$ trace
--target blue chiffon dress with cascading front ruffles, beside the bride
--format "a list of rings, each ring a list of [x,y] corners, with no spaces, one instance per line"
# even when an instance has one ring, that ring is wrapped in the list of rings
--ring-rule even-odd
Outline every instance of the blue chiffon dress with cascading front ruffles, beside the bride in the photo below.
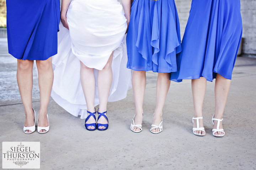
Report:
[[[127,68],[176,72],[179,52],[180,23],[174,0],[134,0],[127,33]]]

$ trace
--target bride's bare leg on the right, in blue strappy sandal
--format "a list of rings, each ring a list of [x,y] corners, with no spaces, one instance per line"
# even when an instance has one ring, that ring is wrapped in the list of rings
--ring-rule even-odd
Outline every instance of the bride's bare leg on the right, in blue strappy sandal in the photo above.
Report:
[[[112,85],[113,73],[112,73],[112,60],[113,53],[111,53],[110,58],[107,61],[107,64],[102,70],[98,71],[98,94],[100,106],[98,112],[103,113],[107,111],[107,101],[110,94],[110,89]],[[105,113],[106,114],[106,113]],[[108,121],[103,116],[98,119],[98,123],[107,124]],[[98,129],[105,129],[105,126],[99,126]]]

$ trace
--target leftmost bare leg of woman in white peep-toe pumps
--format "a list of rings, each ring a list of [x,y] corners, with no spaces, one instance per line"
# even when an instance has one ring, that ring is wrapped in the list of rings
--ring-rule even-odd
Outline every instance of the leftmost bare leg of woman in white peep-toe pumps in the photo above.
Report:
[[[25,108],[25,127],[34,126],[34,112],[32,109],[33,63],[33,60],[17,59],[17,83]],[[31,132],[31,130],[26,130],[26,132]]]

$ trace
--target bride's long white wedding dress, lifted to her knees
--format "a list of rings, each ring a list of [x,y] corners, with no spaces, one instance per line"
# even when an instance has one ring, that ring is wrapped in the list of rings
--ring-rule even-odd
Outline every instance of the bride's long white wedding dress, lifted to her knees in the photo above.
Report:
[[[67,19],[69,30],[60,23],[58,54],[52,57],[51,96],[66,111],[85,119],[87,107],[80,83],[80,61],[95,68],[95,106],[99,104],[98,70],[103,69],[113,50],[113,81],[108,101],[122,100],[132,86],[131,71],[126,68],[127,20],[117,0],[73,0]]]

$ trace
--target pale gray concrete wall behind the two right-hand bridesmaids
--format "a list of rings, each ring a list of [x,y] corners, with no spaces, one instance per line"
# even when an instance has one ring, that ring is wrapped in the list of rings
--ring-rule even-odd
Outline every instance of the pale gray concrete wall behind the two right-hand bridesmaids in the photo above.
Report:
[[[192,0],[175,0],[183,36]],[[256,55],[256,0],[240,0],[243,21],[242,53]]]

